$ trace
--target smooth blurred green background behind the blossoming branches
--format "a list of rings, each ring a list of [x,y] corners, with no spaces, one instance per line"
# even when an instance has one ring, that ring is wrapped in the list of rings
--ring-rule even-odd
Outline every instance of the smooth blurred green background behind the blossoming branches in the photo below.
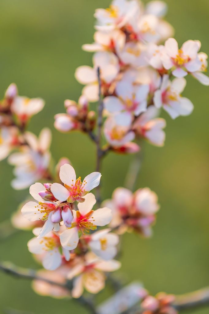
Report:
[[[168,20],[176,39],[199,39],[209,53],[208,0],[167,0]],[[43,97],[44,110],[35,116],[30,130],[53,130],[52,154],[57,161],[69,157],[77,173],[94,171],[95,147],[83,134],[63,135],[53,128],[53,116],[64,112],[63,101],[77,100],[82,86],[74,79],[75,68],[91,65],[91,54],[81,45],[91,43],[94,9],[108,7],[109,0],[1,0],[0,2],[0,95],[15,82],[20,95]],[[189,117],[167,120],[166,144],[144,148],[138,187],[150,187],[159,196],[161,209],[152,239],[135,235],[123,237],[122,268],[125,281],[141,280],[155,294],[158,291],[184,293],[208,285],[208,93],[207,87],[192,78],[184,95],[195,110]],[[110,154],[104,162],[103,195],[109,198],[122,186],[131,156]],[[12,167],[0,164],[0,220],[8,219],[28,191],[10,187]],[[23,267],[37,268],[27,250],[30,232],[18,232],[0,242],[0,259]],[[104,300],[110,291],[102,292]],[[87,313],[75,301],[55,300],[36,295],[30,282],[0,273],[0,312],[14,308],[34,313]],[[206,314],[208,309],[194,311]]]

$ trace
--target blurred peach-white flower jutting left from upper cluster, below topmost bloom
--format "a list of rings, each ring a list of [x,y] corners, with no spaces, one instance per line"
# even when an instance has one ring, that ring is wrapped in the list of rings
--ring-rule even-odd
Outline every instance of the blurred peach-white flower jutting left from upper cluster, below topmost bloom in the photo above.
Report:
[[[121,51],[126,42],[126,35],[121,30],[113,30],[110,33],[96,31],[94,33],[94,43],[82,46],[85,51]]]

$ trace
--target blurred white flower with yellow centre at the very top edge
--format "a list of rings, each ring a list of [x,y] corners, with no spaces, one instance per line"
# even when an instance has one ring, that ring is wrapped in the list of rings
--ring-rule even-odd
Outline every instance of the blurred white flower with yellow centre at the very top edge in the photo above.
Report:
[[[94,17],[97,19],[96,29],[112,31],[121,29],[126,23],[138,15],[140,6],[137,0],[113,0],[110,7],[96,9]]]

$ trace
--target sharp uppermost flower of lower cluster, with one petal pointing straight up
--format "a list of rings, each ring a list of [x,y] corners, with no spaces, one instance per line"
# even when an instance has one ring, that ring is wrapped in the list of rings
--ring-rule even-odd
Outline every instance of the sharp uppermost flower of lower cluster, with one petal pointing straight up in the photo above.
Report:
[[[76,173],[71,165],[65,164],[60,167],[60,180],[64,186],[59,183],[53,183],[51,192],[56,199],[68,203],[83,202],[84,196],[99,185],[101,178],[100,172],[92,172],[81,181],[81,177],[76,179]]]

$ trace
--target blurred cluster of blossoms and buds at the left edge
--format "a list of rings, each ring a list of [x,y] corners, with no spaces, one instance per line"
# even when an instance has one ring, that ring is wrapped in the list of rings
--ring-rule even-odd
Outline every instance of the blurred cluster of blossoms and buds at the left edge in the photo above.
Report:
[[[0,160],[9,156],[8,163],[15,166],[12,187],[16,190],[50,177],[50,129],[44,128],[39,138],[26,131],[30,118],[44,105],[44,100],[40,98],[19,96],[15,84],[9,85],[0,102]],[[13,150],[17,152],[12,153]]]

